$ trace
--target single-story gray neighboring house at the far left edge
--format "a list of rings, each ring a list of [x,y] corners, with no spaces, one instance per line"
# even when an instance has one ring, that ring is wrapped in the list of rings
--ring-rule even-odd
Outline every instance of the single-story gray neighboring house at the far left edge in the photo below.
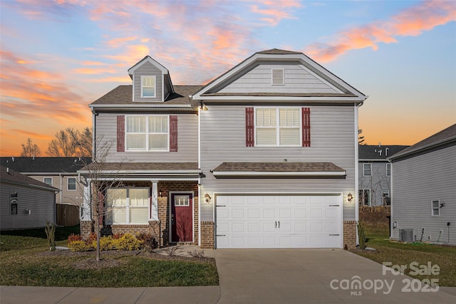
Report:
[[[56,222],[58,189],[0,166],[0,229],[45,227]]]

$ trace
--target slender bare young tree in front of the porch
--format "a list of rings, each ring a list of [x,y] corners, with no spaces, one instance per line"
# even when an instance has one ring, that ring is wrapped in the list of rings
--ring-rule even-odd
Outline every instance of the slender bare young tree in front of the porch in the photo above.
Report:
[[[102,142],[99,140],[98,142]],[[108,153],[113,146],[113,142],[103,142],[96,148],[96,158],[92,162],[84,164],[79,171],[81,173],[81,183],[83,183],[83,213],[92,221],[97,233],[96,260],[100,261],[100,235],[103,229],[103,219],[112,218],[113,206],[107,204],[106,196],[111,189],[122,187],[118,174],[124,162],[107,162]],[[81,159],[83,161],[83,159]],[[120,197],[110,197],[111,201]]]

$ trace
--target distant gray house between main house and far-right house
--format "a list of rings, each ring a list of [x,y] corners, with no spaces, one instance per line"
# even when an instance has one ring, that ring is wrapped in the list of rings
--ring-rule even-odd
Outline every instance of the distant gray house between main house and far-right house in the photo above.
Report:
[[[388,157],[409,146],[360,145],[359,191],[360,206],[386,206],[390,204],[391,163]]]

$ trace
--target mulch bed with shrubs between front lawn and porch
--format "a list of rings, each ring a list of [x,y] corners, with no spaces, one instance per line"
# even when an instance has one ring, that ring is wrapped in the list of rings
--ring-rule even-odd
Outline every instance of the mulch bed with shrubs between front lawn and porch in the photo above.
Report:
[[[147,252],[147,251],[101,251],[100,252],[100,261],[96,261],[96,252],[95,251],[70,251],[70,250],[56,250],[56,251],[44,251],[38,253],[40,256],[68,256],[68,257],[77,257],[84,256],[87,257],[81,261],[76,261],[73,263],[73,267],[77,269],[101,269],[108,267],[120,266],[122,263],[125,263],[122,258],[123,256],[141,256],[143,258],[150,258],[153,260],[160,261],[187,261],[187,262],[197,262],[197,263],[213,263],[215,264],[214,258],[194,258],[186,256],[165,256],[160,253]]]

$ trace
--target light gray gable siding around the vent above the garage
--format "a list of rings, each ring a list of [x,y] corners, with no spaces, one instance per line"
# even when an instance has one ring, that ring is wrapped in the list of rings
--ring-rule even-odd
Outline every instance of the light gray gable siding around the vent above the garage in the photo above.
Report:
[[[271,69],[284,69],[284,85],[271,85]],[[219,93],[341,93],[299,63],[260,63]]]

